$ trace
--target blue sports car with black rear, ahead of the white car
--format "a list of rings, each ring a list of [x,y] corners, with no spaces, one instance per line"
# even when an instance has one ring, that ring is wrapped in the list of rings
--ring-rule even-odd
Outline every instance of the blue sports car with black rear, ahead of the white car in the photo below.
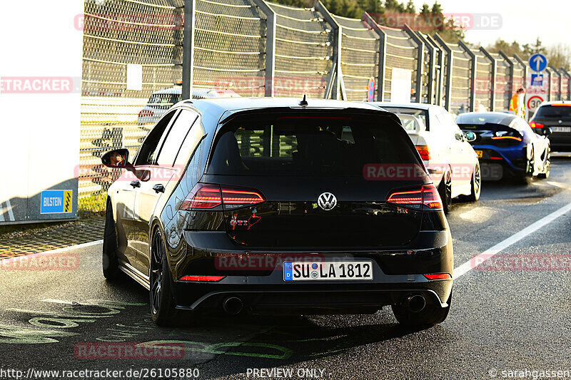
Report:
[[[523,180],[549,177],[549,139],[534,133],[522,118],[510,113],[470,112],[459,115],[456,123],[480,159],[483,179],[498,180],[506,172]]]

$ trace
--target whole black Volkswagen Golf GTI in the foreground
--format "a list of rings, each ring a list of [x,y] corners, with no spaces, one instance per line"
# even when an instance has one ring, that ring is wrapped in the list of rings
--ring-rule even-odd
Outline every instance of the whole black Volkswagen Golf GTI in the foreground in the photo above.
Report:
[[[108,189],[103,275],[149,289],[151,314],[448,316],[453,247],[400,120],[291,98],[183,101]]]

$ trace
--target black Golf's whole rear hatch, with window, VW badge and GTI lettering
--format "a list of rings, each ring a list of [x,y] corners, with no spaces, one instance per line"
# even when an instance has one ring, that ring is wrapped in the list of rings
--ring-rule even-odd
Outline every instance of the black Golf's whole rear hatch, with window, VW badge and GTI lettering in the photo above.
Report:
[[[201,182],[221,187],[238,245],[342,250],[413,240],[423,207],[402,207],[400,193],[430,178],[393,115],[288,110],[227,120]]]

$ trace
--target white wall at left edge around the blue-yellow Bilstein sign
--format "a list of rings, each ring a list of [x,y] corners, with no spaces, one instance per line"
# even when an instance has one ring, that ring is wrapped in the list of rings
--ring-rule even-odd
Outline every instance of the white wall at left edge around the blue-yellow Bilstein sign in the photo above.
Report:
[[[0,223],[12,219],[7,202],[16,221],[76,215],[83,9],[81,0],[0,3]],[[46,189],[74,190],[74,212],[39,215]]]

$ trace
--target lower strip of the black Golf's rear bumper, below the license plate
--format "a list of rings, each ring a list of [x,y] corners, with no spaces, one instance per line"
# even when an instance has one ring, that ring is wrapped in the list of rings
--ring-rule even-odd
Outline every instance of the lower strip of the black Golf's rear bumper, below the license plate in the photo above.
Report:
[[[453,280],[372,284],[196,284],[177,283],[176,308],[220,311],[229,297],[242,300],[251,314],[336,314],[375,312],[420,294],[427,304],[445,306]],[[193,294],[200,293],[200,297]]]

